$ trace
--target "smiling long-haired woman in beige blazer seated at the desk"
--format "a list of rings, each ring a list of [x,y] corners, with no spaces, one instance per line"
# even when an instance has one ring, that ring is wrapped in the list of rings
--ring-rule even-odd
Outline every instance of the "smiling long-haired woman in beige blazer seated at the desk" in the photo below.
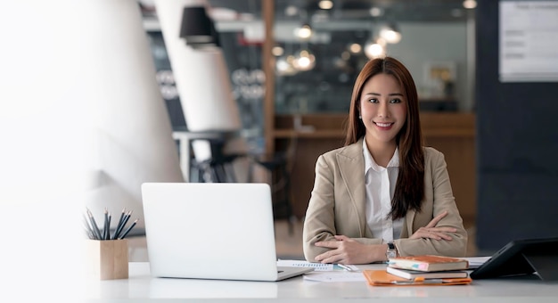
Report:
[[[444,155],[422,140],[409,71],[392,57],[368,61],[355,81],[345,146],[316,161],[303,230],[308,261],[464,257],[467,233]]]

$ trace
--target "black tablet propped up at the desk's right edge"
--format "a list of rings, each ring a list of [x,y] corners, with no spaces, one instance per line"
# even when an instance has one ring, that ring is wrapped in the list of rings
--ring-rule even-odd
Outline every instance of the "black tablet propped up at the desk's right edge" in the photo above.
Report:
[[[558,238],[509,242],[470,275],[488,279],[534,273],[543,280],[558,280]]]

